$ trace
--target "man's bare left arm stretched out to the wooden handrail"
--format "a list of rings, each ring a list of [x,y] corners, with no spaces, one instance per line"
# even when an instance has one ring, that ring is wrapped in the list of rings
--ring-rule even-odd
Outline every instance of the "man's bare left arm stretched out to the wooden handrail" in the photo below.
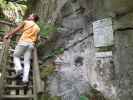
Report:
[[[19,25],[18,27],[16,27],[14,30],[12,30],[11,32],[7,33],[4,36],[4,39],[8,39],[10,37],[12,37],[14,34],[16,34],[17,32],[19,32],[22,28],[24,27],[24,23],[22,23],[21,25]]]

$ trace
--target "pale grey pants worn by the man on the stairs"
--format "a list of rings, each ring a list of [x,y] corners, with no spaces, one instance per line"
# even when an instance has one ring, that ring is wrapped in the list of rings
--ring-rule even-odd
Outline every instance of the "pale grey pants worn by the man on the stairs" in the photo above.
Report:
[[[13,54],[16,73],[23,71],[23,82],[28,82],[29,80],[30,60],[33,48],[34,45],[32,43],[18,43]],[[21,64],[21,56],[24,57],[24,67]]]

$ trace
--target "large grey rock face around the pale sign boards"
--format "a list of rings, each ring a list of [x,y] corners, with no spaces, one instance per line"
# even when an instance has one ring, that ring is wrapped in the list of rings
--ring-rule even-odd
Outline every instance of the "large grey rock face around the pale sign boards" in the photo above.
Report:
[[[40,8],[44,9],[43,13],[37,8],[35,11],[41,16],[49,15],[44,19],[50,18],[50,22],[60,23],[56,46],[65,48],[55,60],[59,64],[58,73],[49,77],[50,93],[62,96],[63,100],[67,96],[78,100],[80,94],[89,94],[95,88],[109,100],[132,100],[132,0],[45,0],[41,3],[39,0],[35,6],[48,3]],[[53,10],[46,11],[51,6]],[[113,55],[97,59],[92,22],[107,17],[113,18]]]

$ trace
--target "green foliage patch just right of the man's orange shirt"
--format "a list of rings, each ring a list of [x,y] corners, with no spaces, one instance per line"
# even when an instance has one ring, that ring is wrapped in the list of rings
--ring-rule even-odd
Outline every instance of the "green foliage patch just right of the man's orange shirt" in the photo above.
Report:
[[[53,33],[57,31],[57,27],[52,24],[44,24],[39,22],[38,25],[40,26],[40,33],[44,37],[48,37],[49,33]]]

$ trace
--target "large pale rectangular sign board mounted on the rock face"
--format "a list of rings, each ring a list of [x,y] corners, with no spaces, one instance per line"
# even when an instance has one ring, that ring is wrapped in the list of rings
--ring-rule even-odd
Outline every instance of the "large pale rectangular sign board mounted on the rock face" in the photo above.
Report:
[[[105,18],[93,22],[95,47],[106,47],[113,45],[112,19]]]

